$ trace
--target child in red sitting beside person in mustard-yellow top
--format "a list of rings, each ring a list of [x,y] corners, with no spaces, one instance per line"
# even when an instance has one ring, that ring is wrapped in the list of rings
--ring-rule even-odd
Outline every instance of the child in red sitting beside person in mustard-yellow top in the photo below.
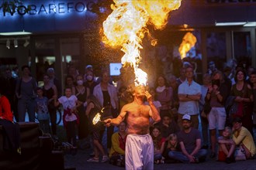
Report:
[[[232,134],[231,132],[232,131],[230,127],[224,128],[222,136],[220,136],[218,139],[218,143],[219,143],[218,161],[226,162],[228,164],[230,164],[231,162],[234,162],[234,151],[236,148],[236,145],[231,138],[231,134]]]

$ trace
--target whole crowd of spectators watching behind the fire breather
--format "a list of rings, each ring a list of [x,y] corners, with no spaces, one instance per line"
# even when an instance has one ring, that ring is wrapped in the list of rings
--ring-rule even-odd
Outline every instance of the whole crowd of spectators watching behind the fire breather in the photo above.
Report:
[[[152,123],[150,128],[155,146],[154,162],[203,162],[209,152],[209,158],[231,163],[240,160],[237,154],[240,150],[244,151],[241,152],[244,159],[254,158],[256,70],[238,65],[231,76],[209,62],[202,83],[197,82],[192,64],[186,62],[179,71],[179,76],[159,74],[155,83],[149,83],[154,84],[148,91],[161,116],[161,121]],[[2,77],[6,84],[2,86],[2,94],[9,99],[15,121],[25,121],[26,113],[29,121],[47,114],[48,121],[39,121],[41,127],[50,123],[51,128],[42,128],[43,132],[58,138],[56,109],[61,104],[67,140],[74,147],[85,148],[87,142],[94,148],[94,157],[88,162],[99,162],[101,155],[101,162],[108,162],[110,158],[112,164],[123,165],[126,123],[120,124],[119,131],[115,132],[114,127],[95,126],[92,119],[100,112],[102,118],[117,117],[123,105],[133,101],[129,85],[134,75],[129,67],[121,69],[116,84],[112,83],[108,70],[102,70],[96,79],[93,66],[86,66],[84,74],[71,66],[65,77],[63,96],[53,68],[43,76],[43,87],[38,87],[29,66],[22,66],[22,75],[16,79],[10,73],[11,70],[6,69]],[[41,100],[47,104],[45,110],[40,108]],[[102,141],[104,131],[106,148]]]

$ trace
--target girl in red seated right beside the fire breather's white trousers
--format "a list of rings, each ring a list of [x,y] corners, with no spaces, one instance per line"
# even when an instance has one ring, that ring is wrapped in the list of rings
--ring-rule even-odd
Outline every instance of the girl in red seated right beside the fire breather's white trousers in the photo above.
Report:
[[[160,128],[154,126],[151,132],[151,137],[154,143],[154,163],[159,164],[164,162],[164,158],[162,157],[163,148],[161,145],[164,143],[165,138],[162,138]]]

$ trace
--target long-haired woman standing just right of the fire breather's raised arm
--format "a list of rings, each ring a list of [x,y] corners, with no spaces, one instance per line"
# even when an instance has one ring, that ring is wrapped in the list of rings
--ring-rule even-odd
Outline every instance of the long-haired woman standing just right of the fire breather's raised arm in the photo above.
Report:
[[[160,116],[162,118],[164,114],[171,114],[171,102],[173,100],[173,90],[168,87],[164,75],[157,77],[156,92],[156,99],[161,103]]]

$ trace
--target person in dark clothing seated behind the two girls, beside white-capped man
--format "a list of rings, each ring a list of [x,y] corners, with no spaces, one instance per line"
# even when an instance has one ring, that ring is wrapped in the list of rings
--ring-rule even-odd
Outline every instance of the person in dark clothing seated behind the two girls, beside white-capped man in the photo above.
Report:
[[[163,116],[163,120],[160,125],[161,135],[164,138],[168,138],[170,134],[176,134],[180,131],[178,124],[171,118],[169,114]]]

